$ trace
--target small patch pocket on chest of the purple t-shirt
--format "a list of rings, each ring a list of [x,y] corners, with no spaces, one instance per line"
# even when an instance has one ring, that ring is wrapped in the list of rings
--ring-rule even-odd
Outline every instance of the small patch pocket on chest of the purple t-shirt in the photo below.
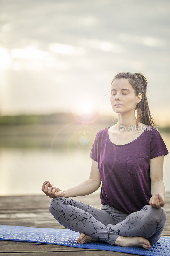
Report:
[[[135,176],[141,174],[144,167],[144,157],[127,156],[126,167],[127,167],[127,172]]]

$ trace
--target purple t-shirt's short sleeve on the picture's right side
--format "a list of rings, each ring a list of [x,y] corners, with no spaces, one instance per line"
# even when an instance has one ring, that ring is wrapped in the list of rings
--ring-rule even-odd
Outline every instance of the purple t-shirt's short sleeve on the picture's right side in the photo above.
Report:
[[[168,154],[168,150],[166,145],[158,132],[158,130],[154,130],[152,133],[151,144],[150,144],[150,159],[155,158],[157,156],[166,156]]]

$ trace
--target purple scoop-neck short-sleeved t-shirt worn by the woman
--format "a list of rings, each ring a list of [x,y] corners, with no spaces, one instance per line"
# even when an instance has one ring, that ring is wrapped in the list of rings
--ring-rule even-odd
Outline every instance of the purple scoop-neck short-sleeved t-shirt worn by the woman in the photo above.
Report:
[[[150,125],[124,145],[111,142],[108,129],[97,132],[90,152],[90,157],[98,162],[102,180],[101,204],[129,215],[149,204],[150,159],[169,152],[158,130]]]

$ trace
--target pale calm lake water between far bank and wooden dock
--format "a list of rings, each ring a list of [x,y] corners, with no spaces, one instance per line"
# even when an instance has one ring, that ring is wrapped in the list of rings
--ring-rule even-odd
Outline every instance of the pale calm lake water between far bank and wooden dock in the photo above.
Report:
[[[169,134],[160,134],[170,152]],[[22,141],[24,137],[20,138],[19,145],[22,145]],[[24,148],[18,146],[18,140],[15,144],[9,138],[3,139],[0,147],[0,196],[45,195],[41,190],[45,180],[50,181],[52,186],[66,190],[88,179],[92,163],[89,156],[91,147],[82,149],[67,145],[65,148],[53,148],[51,145],[49,141],[47,147]],[[166,192],[170,192],[169,166],[170,154],[164,157]],[[95,193],[100,194],[100,189],[101,186]]]

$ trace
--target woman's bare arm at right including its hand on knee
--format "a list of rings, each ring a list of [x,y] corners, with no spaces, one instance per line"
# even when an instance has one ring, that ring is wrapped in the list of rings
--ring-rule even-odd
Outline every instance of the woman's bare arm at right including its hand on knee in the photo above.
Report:
[[[165,186],[163,182],[164,155],[150,159],[151,195],[149,204],[160,208],[165,205]]]

